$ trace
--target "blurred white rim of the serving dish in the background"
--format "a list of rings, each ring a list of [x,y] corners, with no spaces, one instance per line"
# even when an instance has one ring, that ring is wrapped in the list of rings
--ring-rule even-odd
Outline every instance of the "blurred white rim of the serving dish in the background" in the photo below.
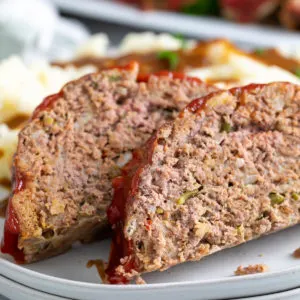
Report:
[[[299,33],[260,25],[241,25],[213,17],[171,12],[142,12],[112,0],[52,0],[66,12],[140,28],[182,33],[197,38],[228,38],[252,46],[299,45]]]

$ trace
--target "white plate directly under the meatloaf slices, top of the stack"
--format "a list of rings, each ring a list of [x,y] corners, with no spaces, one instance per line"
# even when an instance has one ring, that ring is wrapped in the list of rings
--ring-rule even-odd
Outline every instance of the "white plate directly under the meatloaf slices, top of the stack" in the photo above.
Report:
[[[2,234],[3,219],[0,222]],[[145,275],[147,285],[100,284],[90,259],[107,260],[109,241],[74,247],[70,252],[39,263],[18,266],[0,257],[0,274],[28,287],[74,299],[208,300],[265,295],[296,288],[300,260],[291,253],[300,246],[300,226],[242,246],[221,251],[200,262]],[[262,255],[262,256],[261,256]],[[233,276],[239,265],[265,263],[270,272]]]

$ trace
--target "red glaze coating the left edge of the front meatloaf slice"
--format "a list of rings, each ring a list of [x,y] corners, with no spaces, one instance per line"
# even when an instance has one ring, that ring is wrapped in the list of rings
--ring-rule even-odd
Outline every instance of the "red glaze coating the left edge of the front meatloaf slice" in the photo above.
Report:
[[[132,160],[123,168],[123,175],[113,180],[114,196],[111,205],[107,210],[109,223],[112,225],[114,234],[111,245],[109,264],[106,274],[109,283],[125,284],[129,280],[116,272],[116,268],[121,265],[120,260],[127,257],[128,260],[122,264],[124,271],[138,271],[138,262],[132,256],[133,245],[124,236],[124,222],[126,219],[126,206],[133,201],[139,183],[139,174],[143,167],[149,162],[155,147],[156,137],[153,136],[144,148],[133,152]]]

